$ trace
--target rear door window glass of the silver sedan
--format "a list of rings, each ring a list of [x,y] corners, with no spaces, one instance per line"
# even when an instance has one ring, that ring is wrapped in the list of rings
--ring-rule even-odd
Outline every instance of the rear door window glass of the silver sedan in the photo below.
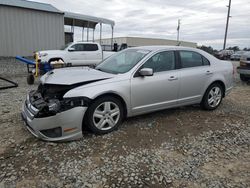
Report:
[[[182,68],[198,67],[203,65],[200,54],[191,51],[180,51]]]

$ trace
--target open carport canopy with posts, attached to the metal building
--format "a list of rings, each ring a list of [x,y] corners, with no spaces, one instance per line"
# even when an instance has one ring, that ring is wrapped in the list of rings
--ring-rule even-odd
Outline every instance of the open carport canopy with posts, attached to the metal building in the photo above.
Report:
[[[84,14],[78,14],[73,12],[64,12],[64,25],[69,25],[72,28],[72,32],[74,34],[74,27],[82,27],[82,39],[84,38],[84,28],[87,28],[87,41],[89,41],[89,28],[93,29],[93,41],[94,41],[94,32],[96,25],[100,24],[100,43],[102,39],[102,24],[110,25],[112,29],[112,39],[111,39],[111,49],[113,44],[113,33],[114,33],[114,25],[115,22],[113,20],[94,17]]]

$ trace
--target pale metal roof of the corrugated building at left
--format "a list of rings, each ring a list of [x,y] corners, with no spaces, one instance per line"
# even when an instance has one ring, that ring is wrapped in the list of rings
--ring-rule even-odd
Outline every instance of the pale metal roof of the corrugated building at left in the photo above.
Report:
[[[21,8],[27,8],[27,9],[35,9],[35,10],[41,10],[46,12],[54,12],[54,13],[61,13],[62,11],[58,10],[54,6],[46,3],[39,3],[39,2],[33,2],[33,1],[26,1],[26,0],[0,0],[0,5],[6,5],[6,6],[14,6],[14,7],[21,7]]]

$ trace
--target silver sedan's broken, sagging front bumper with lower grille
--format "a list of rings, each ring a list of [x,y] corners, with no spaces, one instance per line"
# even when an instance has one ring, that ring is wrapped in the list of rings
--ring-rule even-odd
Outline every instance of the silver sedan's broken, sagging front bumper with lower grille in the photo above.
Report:
[[[30,102],[23,105],[22,118],[35,137],[46,141],[70,141],[82,137],[82,121],[87,107],[75,107],[49,117],[37,118],[39,110]]]

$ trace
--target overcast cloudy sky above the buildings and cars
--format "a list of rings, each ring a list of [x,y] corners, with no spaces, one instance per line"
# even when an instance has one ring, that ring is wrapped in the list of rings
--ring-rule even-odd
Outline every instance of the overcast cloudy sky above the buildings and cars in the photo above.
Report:
[[[114,37],[177,38],[222,49],[229,0],[33,0],[70,11],[115,21]],[[250,48],[250,0],[232,0],[227,47]],[[95,37],[99,38],[99,26]],[[75,29],[81,40],[81,28]],[[109,26],[104,37],[111,37]]]

